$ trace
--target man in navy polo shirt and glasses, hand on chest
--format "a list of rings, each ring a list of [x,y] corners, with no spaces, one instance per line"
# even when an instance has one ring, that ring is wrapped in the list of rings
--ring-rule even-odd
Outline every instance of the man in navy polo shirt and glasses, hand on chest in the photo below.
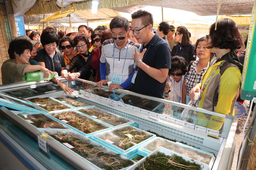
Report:
[[[139,10],[132,14],[131,32],[140,49],[135,49],[134,61],[137,67],[132,78],[132,91],[153,97],[164,98],[165,82],[171,68],[171,50],[166,40],[152,31],[153,16]]]

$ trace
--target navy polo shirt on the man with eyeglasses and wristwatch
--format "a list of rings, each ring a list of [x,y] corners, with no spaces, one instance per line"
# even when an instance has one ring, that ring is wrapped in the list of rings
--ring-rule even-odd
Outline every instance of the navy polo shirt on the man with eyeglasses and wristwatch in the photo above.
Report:
[[[140,47],[139,52],[142,52],[145,48],[147,49],[143,57],[145,64],[156,69],[171,68],[171,50],[166,40],[160,38],[158,34],[155,34],[146,46],[142,45]],[[132,83],[131,91],[143,95],[164,98],[165,82],[160,83],[139,67],[137,67],[135,71],[136,70],[138,70],[138,72],[134,84]]]

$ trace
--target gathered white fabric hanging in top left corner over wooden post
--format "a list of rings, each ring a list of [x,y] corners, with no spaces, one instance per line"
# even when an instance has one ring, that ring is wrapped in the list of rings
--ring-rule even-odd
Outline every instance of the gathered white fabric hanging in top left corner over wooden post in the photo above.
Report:
[[[36,0],[12,0],[12,8],[14,10],[14,16],[23,15],[27,12],[34,4]]]

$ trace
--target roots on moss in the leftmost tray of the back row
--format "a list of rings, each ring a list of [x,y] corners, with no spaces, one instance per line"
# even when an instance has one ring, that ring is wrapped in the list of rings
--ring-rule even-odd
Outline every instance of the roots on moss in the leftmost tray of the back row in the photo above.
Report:
[[[68,109],[65,104],[59,103],[55,100],[52,100],[49,97],[44,97],[44,98],[30,98],[28,99],[32,103],[35,103],[39,107],[42,107],[43,109],[47,111],[57,111],[57,110],[62,110],[62,109]]]

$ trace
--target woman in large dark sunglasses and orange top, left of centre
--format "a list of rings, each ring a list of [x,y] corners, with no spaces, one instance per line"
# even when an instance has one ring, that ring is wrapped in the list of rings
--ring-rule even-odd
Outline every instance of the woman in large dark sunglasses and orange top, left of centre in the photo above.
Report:
[[[65,64],[68,65],[74,57],[74,41],[69,37],[64,36],[62,39],[60,39],[59,48],[63,52]],[[74,69],[70,70],[70,73],[74,73]]]

